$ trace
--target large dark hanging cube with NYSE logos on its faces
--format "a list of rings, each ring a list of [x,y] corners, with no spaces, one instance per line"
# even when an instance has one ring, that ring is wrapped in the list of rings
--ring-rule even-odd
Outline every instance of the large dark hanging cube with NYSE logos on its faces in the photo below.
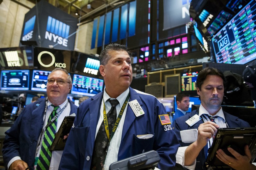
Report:
[[[76,26],[76,18],[43,0],[26,13],[20,40],[28,41],[27,44],[36,41],[44,48],[51,45],[55,49],[74,50]]]

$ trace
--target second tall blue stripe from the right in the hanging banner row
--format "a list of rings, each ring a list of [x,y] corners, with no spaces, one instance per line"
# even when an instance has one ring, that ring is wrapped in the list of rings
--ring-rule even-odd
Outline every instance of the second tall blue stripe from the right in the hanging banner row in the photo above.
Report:
[[[121,22],[120,22],[120,40],[126,37],[127,17],[128,17],[128,5],[125,4],[121,7]]]

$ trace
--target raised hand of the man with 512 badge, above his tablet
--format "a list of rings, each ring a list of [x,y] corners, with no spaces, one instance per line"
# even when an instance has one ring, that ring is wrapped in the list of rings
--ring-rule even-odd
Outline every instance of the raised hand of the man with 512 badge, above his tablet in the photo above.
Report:
[[[213,122],[204,122],[198,127],[198,136],[196,143],[201,146],[201,149],[207,144],[207,142],[216,134],[219,125]]]

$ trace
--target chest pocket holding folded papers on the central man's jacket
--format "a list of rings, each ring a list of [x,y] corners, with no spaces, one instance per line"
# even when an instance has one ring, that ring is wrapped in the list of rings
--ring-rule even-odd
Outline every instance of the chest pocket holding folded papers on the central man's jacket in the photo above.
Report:
[[[148,139],[140,139],[135,134],[133,134],[133,155],[138,155],[140,153],[153,150],[154,138],[155,135]]]

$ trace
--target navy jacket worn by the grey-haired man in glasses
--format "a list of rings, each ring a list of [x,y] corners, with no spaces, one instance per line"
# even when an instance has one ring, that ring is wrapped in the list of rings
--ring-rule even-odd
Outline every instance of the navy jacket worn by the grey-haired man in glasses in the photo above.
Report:
[[[9,161],[16,156],[20,156],[29,169],[34,169],[36,144],[44,125],[45,99],[27,105],[12,127],[5,132],[2,152],[6,169]],[[76,113],[77,106],[70,100],[69,103],[70,115]]]

